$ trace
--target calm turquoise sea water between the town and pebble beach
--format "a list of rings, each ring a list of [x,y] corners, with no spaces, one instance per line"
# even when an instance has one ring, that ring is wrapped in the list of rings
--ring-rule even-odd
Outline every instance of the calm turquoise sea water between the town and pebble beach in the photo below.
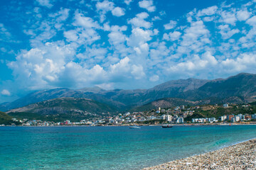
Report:
[[[256,125],[0,127],[0,169],[142,169],[256,137]]]

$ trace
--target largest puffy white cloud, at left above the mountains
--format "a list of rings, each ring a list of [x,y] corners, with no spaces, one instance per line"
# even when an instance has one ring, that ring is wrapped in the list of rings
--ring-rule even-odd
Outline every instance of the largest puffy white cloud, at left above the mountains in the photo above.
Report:
[[[40,89],[58,81],[58,74],[65,69],[65,63],[72,60],[74,54],[70,45],[46,43],[41,48],[24,50],[8,66],[13,69],[16,81],[21,86]]]

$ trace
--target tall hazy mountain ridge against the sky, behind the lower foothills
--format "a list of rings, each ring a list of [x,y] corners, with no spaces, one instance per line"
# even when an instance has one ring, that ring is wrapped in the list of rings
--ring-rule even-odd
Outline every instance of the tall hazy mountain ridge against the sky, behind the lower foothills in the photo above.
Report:
[[[256,74],[240,73],[226,79],[178,79],[166,81],[151,89],[105,90],[100,87],[78,90],[58,88],[36,91],[11,103],[0,104],[0,111],[27,106],[53,98],[90,98],[118,111],[127,111],[160,98],[181,98],[188,101],[255,101]],[[237,97],[237,98],[235,98]],[[217,99],[218,98],[218,99]],[[233,99],[231,99],[233,98]]]

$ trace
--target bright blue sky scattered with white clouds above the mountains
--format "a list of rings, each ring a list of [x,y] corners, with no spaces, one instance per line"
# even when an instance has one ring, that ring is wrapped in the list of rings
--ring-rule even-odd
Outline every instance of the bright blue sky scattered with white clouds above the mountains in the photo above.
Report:
[[[0,103],[256,73],[256,0],[0,2]]]

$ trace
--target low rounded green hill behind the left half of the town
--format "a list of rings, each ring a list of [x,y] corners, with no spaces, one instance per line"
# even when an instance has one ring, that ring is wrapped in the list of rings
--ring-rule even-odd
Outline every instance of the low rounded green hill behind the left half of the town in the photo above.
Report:
[[[82,118],[90,118],[95,115],[107,115],[115,111],[114,108],[104,103],[92,101],[87,98],[54,98],[48,101],[30,104],[22,108],[12,109],[7,113],[15,115],[16,117],[18,117],[18,113],[20,113],[21,116],[24,114],[32,114],[31,116],[38,117],[40,115],[42,119],[45,118],[44,116],[50,116],[50,118],[58,116],[60,118],[75,118],[76,120],[81,120]]]

